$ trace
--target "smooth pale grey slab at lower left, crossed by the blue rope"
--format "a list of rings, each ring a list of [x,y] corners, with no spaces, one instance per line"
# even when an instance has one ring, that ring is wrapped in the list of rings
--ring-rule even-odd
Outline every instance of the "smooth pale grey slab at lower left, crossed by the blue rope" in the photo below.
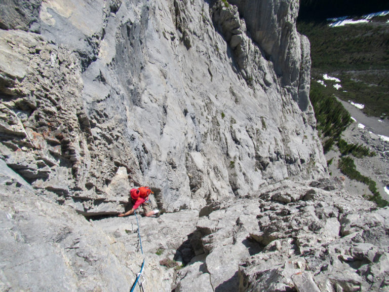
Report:
[[[148,287],[171,290],[173,269],[161,266],[155,252],[164,248],[173,259],[198,212],[139,218],[142,254],[134,216],[88,222],[56,203],[55,193],[32,189],[3,161],[0,169],[0,290],[129,291],[144,258]],[[185,220],[177,228],[172,223],[179,218]]]

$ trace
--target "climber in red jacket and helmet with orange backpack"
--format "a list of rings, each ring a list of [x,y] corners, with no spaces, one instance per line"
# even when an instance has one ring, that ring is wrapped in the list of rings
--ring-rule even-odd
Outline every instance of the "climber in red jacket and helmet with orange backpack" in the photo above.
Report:
[[[131,203],[132,203],[132,208],[131,210],[125,212],[125,213],[120,213],[118,216],[119,217],[124,217],[131,215],[132,213],[135,212],[135,210],[142,205],[143,207],[143,214],[147,217],[152,216],[152,215],[158,215],[160,213],[160,210],[155,209],[151,210],[151,201],[148,198],[148,196],[151,194],[151,190],[148,187],[140,187],[138,189],[131,189],[130,190],[130,195],[131,195]]]

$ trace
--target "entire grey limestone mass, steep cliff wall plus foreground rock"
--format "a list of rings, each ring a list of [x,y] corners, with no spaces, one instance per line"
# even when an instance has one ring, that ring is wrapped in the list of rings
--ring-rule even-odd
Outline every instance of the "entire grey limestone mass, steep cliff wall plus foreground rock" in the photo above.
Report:
[[[389,208],[324,177],[297,0],[0,11],[0,290],[128,291],[143,260],[147,291],[387,290]],[[160,217],[116,216],[138,185]]]

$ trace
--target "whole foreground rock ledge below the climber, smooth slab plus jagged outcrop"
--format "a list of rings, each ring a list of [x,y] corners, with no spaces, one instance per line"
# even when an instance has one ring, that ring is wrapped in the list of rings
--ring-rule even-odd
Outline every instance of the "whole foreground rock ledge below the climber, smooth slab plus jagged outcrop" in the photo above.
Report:
[[[0,168],[4,291],[130,290],[143,259],[145,290],[389,287],[389,209],[345,192],[339,180],[282,181],[200,212],[87,221]]]

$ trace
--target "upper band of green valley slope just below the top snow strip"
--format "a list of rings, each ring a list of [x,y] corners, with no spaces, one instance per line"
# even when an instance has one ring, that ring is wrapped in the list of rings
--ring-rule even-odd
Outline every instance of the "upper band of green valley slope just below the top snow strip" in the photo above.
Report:
[[[389,31],[384,23],[330,27],[328,22],[299,22],[311,43],[312,67],[339,70],[387,69]],[[372,50],[374,48],[374,50]]]

